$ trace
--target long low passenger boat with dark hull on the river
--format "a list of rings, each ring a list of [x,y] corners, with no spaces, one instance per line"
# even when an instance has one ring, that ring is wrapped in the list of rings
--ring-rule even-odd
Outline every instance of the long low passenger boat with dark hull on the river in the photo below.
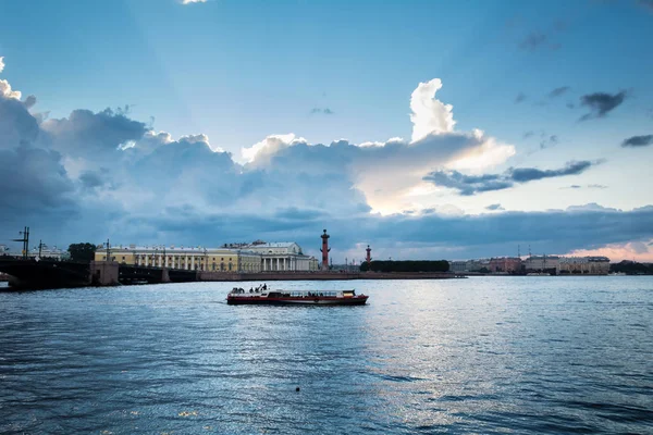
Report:
[[[234,288],[226,296],[229,304],[305,304],[305,306],[364,306],[369,296],[356,290],[254,290]]]

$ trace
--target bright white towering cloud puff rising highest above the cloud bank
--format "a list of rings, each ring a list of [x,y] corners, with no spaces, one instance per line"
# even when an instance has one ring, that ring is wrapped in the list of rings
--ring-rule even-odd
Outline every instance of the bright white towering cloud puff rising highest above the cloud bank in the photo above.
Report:
[[[412,141],[423,139],[430,134],[443,134],[454,130],[454,107],[444,104],[435,98],[442,88],[442,80],[433,78],[420,83],[410,96],[410,121],[412,122]]]

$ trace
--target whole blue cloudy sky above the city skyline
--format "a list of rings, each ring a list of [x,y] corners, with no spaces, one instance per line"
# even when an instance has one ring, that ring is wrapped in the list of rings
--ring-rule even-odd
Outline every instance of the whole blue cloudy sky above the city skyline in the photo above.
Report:
[[[0,244],[653,261],[653,1],[0,0]],[[15,246],[13,244],[12,246]]]

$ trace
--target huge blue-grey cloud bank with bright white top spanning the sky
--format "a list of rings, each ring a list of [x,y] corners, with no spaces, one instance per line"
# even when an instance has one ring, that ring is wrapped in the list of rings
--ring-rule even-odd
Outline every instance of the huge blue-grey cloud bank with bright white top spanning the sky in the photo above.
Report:
[[[466,215],[443,204],[424,181],[433,167],[482,172],[505,163],[515,148],[479,129],[454,130],[451,105],[434,99],[440,87],[431,80],[412,94],[410,141],[311,144],[270,135],[244,149],[244,162],[206,135],[173,137],[124,111],[75,110],[44,120],[5,91],[0,239],[28,224],[52,245],[110,237],[220,246],[263,238],[297,240],[318,254],[326,227],[334,256],[352,251],[352,258],[359,244],[373,243],[393,258],[442,258],[512,251],[516,240],[553,252],[653,238],[653,208]],[[525,176],[510,170],[479,177],[514,185],[518,175]]]

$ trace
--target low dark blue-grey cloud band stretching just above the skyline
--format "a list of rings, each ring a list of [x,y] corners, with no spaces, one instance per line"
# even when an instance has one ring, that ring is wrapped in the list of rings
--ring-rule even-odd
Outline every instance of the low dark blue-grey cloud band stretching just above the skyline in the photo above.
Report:
[[[301,211],[299,210],[299,213]],[[309,212],[310,214],[310,212]],[[319,236],[325,227],[331,235],[332,254],[357,244],[372,244],[393,251],[409,247],[405,258],[473,258],[505,254],[517,244],[529,243],[547,252],[565,253],[574,249],[653,238],[653,207],[632,211],[605,209],[596,204],[544,212],[486,213],[442,216],[439,214],[365,214],[338,216],[323,214],[322,220],[285,221],[249,213],[211,214],[199,210],[164,210],[145,220],[131,217],[125,228],[136,234],[156,228],[157,234],[188,240],[190,245],[220,246],[223,243],[292,239],[305,251],[318,254]],[[119,233],[125,236],[123,231]],[[365,252],[361,250],[361,258]],[[344,254],[343,254],[344,257]]]

